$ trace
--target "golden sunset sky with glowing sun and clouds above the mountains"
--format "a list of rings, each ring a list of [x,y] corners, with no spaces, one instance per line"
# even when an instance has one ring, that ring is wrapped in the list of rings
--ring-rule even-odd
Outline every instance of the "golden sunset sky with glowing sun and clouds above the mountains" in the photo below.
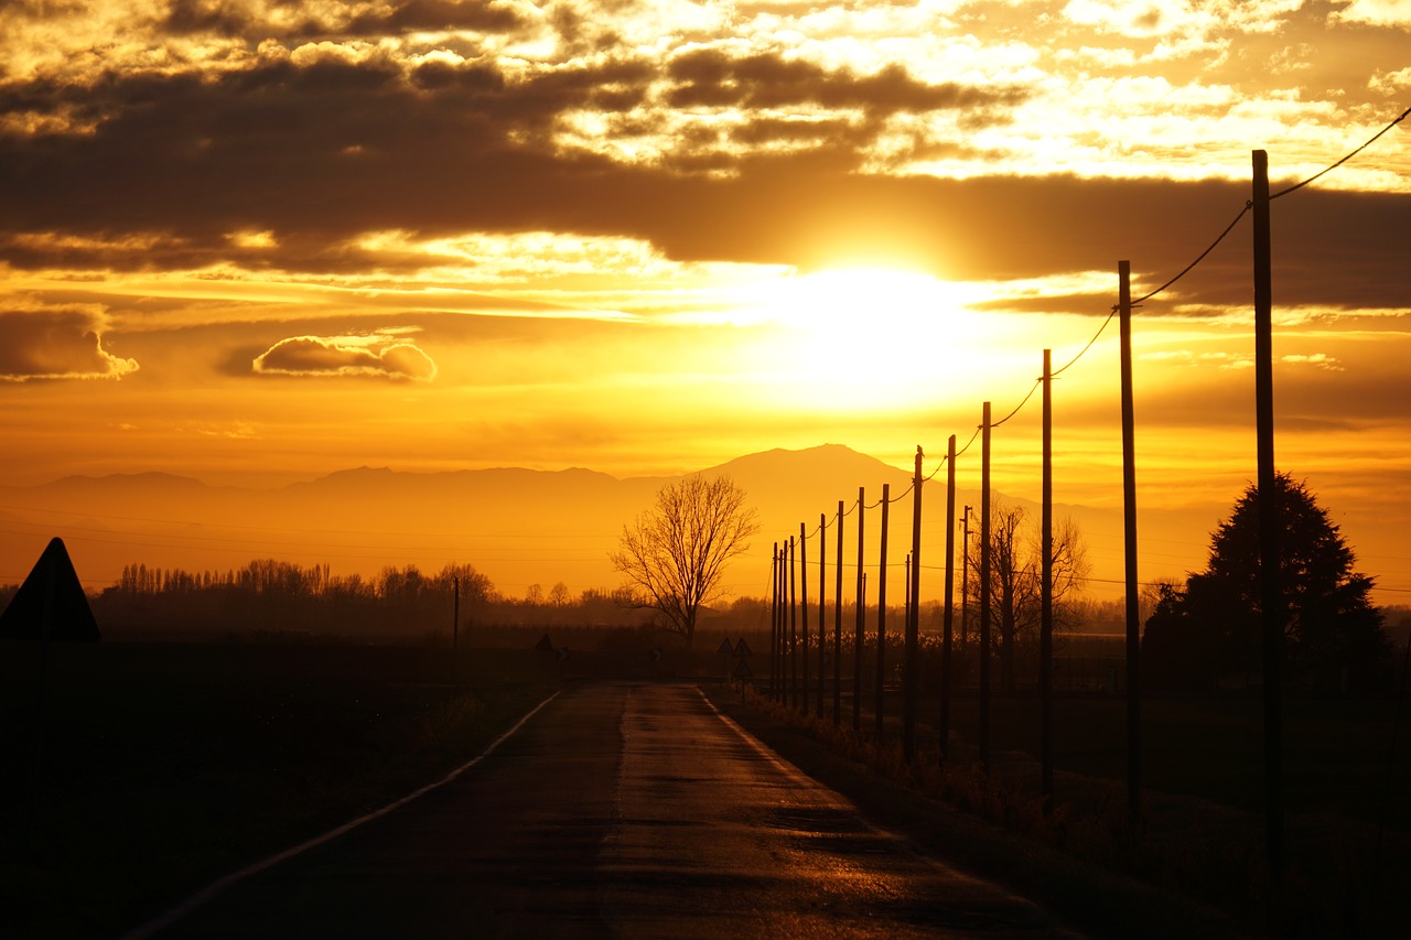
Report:
[[[931,469],[1253,150],[1283,189],[1408,107],[1411,0],[6,3],[0,484]],[[1146,507],[1254,477],[1250,239],[1137,312]],[[1411,603],[1411,120],[1273,244],[1278,464]],[[1116,339],[1055,382],[1065,502],[1120,505]],[[1037,402],[995,432],[1030,498]]]

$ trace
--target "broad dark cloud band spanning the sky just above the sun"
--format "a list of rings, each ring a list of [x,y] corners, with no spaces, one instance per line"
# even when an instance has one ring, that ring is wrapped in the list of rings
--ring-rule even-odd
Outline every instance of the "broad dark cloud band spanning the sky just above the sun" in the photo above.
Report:
[[[988,114],[1010,95],[770,56],[696,54],[667,68],[735,102]],[[687,131],[679,155],[650,165],[553,140],[555,120],[583,109],[610,110],[619,133],[660,131],[626,113],[658,75],[656,64],[624,61],[511,80],[487,65],[406,73],[388,59],[330,58],[207,78],[110,75],[85,88],[11,83],[0,113],[69,113],[96,130],[0,134],[0,260],[337,271],[377,264],[349,247],[365,231],[552,230],[639,237],[684,261],[904,263],[955,278],[1115,271],[1126,258],[1150,288],[1209,246],[1249,195],[1247,183],[1225,182],[862,174],[878,124],[838,116],[797,126],[770,116],[727,138]],[[786,145],[732,152],[731,141],[761,140]],[[1407,217],[1408,195],[1311,186],[1280,199],[1276,302],[1411,305]],[[1161,301],[1249,303],[1249,224]],[[270,231],[274,247],[233,243],[236,231]],[[159,237],[137,248],[133,236]]]

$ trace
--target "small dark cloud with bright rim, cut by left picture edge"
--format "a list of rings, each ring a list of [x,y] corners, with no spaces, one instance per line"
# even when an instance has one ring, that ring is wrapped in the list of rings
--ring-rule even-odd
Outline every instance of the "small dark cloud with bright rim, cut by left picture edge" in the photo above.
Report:
[[[0,313],[0,381],[121,378],[137,361],[103,350],[97,320],[85,311]]]

